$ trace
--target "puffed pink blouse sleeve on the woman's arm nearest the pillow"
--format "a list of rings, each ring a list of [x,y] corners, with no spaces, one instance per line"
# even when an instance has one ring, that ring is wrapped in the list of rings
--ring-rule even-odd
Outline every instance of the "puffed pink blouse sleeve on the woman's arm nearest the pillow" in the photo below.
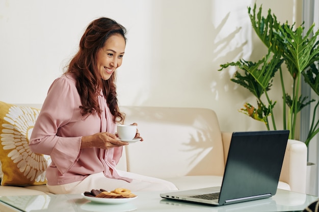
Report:
[[[61,77],[51,84],[29,142],[32,152],[50,155],[61,174],[72,167],[80,153],[81,136],[57,135],[58,129],[70,122],[74,105],[78,107],[75,95],[78,96],[71,79]]]

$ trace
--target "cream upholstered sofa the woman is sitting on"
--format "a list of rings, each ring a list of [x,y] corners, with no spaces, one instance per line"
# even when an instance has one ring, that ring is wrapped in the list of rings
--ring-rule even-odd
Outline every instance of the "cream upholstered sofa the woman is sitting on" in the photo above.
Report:
[[[25,108],[39,111],[41,105],[9,104],[8,107],[30,112]],[[2,108],[0,104],[0,114]],[[221,131],[213,110],[144,106],[121,106],[120,109],[126,114],[126,124],[138,123],[144,141],[123,148],[118,169],[169,180],[179,190],[221,186],[232,133]],[[37,114],[35,112],[33,121]],[[29,123],[32,127],[32,122]],[[49,159],[46,162],[49,163]],[[289,139],[278,188],[305,193],[306,163],[306,145]],[[45,174],[44,168],[42,174]],[[50,194],[45,183],[3,185],[0,196]]]

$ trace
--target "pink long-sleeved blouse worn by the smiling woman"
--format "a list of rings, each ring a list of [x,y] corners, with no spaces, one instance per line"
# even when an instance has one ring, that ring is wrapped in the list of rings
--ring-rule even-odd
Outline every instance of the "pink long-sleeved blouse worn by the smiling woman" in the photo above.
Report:
[[[80,148],[82,136],[115,133],[116,124],[102,94],[98,100],[101,115],[82,116],[73,75],[63,75],[51,84],[29,142],[32,152],[51,157],[52,163],[46,170],[48,185],[81,181],[98,172],[105,177],[131,181],[121,177],[115,168],[122,147]]]

